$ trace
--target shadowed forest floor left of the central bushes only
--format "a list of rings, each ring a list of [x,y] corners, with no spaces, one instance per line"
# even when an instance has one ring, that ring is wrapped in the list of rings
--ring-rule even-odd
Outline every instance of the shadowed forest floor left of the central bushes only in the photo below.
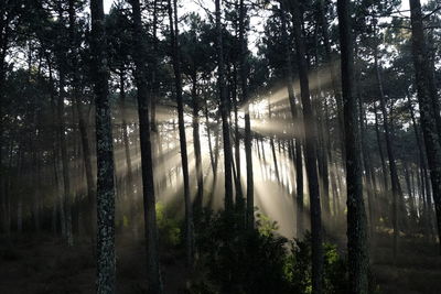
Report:
[[[117,293],[147,292],[146,253],[140,242],[118,238]],[[86,241],[73,248],[51,236],[23,237],[12,248],[0,240],[1,294],[95,293],[95,260]],[[161,254],[164,293],[185,293],[189,277],[183,254]]]

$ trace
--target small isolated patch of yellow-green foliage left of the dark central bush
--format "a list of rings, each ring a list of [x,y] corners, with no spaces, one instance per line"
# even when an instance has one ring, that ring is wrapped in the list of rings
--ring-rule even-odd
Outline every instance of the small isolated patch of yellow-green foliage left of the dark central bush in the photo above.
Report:
[[[162,203],[157,203],[157,224],[161,242],[164,246],[176,247],[181,244],[181,228],[178,220],[166,216]]]

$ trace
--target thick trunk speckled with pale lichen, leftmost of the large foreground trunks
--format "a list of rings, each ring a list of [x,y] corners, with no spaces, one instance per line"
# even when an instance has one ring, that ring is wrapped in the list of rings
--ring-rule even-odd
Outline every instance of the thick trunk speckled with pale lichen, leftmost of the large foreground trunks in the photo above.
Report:
[[[103,0],[90,1],[97,156],[97,293],[116,291],[114,144]]]

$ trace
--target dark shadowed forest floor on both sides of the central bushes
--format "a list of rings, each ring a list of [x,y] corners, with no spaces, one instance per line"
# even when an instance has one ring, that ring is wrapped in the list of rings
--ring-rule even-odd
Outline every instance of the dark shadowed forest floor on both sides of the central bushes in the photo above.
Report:
[[[117,293],[146,293],[144,251],[140,242],[120,236],[117,243]],[[381,235],[373,244],[373,271],[384,294],[435,294],[441,288],[438,248],[424,240],[400,238],[394,263],[391,238]],[[67,248],[49,235],[23,236],[13,247],[0,240],[0,293],[95,293],[95,261],[84,240]],[[183,252],[162,250],[164,293],[185,293],[191,277]]]

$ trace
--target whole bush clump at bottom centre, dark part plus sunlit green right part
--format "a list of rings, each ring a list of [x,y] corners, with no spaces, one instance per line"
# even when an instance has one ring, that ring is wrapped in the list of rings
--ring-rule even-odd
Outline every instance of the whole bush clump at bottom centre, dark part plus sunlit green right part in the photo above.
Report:
[[[262,214],[251,231],[241,220],[240,214],[203,213],[196,247],[207,281],[192,293],[311,293],[311,236],[288,242]],[[324,293],[347,293],[346,262],[330,243],[324,244],[323,285]]]

